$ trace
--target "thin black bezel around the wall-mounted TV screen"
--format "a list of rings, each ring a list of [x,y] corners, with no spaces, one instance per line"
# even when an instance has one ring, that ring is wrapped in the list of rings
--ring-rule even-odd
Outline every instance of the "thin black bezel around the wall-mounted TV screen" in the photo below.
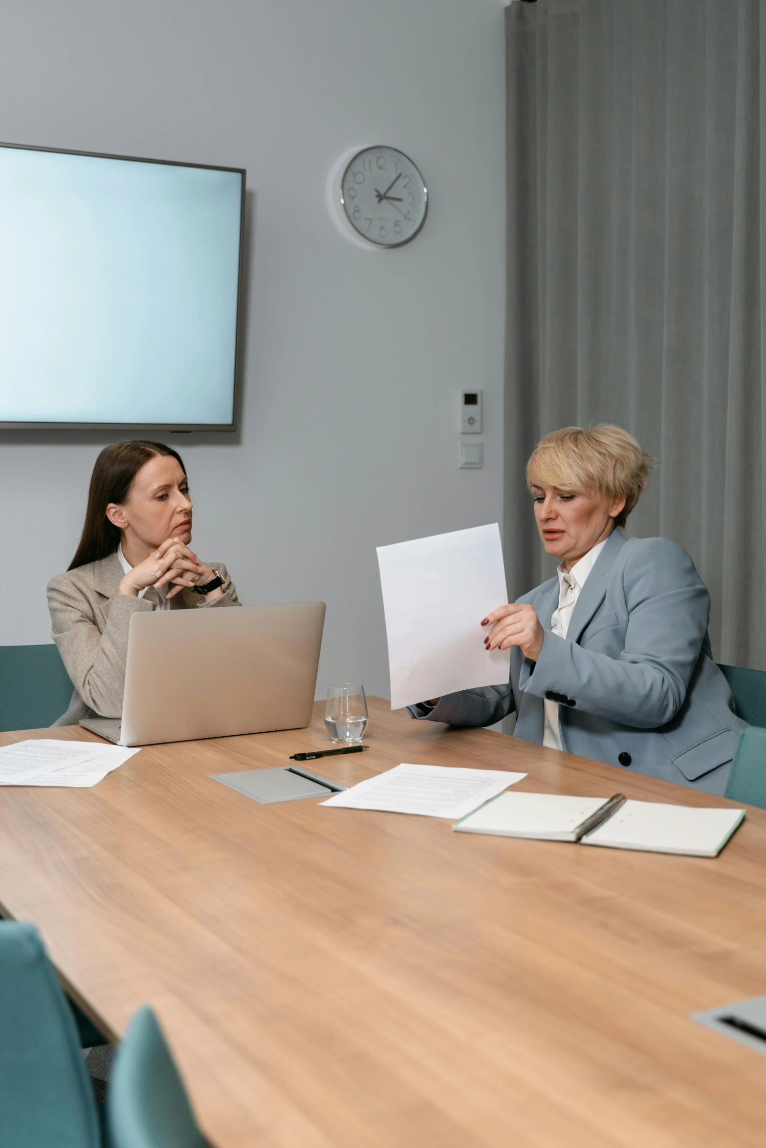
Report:
[[[237,274],[237,325],[234,331],[234,379],[232,387],[231,422],[7,422],[0,420],[0,430],[238,430],[238,414],[241,388],[241,349],[242,349],[242,279],[245,266],[245,192],[247,170],[245,168],[225,168],[215,163],[185,163],[183,160],[150,160],[139,155],[110,155],[105,152],[78,152],[73,148],[38,147],[34,144],[2,144],[0,148],[13,148],[17,152],[52,152],[56,155],[85,155],[95,160],[126,160],[131,163],[156,163],[167,168],[202,168],[207,171],[231,171],[242,177],[242,189],[239,209],[239,267]]]

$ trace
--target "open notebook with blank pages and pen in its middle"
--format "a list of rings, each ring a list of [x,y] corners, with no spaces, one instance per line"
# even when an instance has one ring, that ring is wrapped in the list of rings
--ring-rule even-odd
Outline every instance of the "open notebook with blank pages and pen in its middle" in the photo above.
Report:
[[[645,850],[714,858],[744,819],[744,809],[705,809],[622,794],[558,797],[501,793],[452,825],[462,833],[490,833],[547,841],[578,841],[612,850]]]

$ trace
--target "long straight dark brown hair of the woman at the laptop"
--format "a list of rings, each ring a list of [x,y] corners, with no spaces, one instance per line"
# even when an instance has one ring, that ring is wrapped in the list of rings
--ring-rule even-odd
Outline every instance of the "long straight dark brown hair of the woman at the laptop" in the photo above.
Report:
[[[133,479],[155,455],[175,458],[186,474],[180,455],[161,442],[116,442],[101,451],[91,475],[83,537],[69,564],[70,571],[115,553],[119,545],[119,528],[107,518],[107,506],[111,502],[118,506],[127,502]]]

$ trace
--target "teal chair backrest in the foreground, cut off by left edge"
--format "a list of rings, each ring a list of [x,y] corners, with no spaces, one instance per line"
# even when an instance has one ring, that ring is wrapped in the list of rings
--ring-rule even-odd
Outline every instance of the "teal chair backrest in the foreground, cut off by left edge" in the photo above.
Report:
[[[34,925],[0,922],[0,1145],[98,1148],[93,1088]]]

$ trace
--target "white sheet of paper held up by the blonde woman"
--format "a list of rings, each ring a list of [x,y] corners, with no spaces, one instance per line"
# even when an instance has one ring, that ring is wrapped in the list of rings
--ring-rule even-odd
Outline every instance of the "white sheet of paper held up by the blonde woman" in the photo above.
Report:
[[[510,651],[483,644],[481,619],[508,602],[497,523],[378,546],[390,707],[506,684]]]

